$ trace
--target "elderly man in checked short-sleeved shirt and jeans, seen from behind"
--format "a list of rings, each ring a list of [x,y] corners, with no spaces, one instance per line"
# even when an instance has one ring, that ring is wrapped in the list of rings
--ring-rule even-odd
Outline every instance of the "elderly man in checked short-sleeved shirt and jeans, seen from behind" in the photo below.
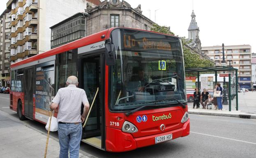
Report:
[[[60,158],[78,158],[82,137],[81,122],[89,111],[89,103],[85,91],[77,88],[76,76],[67,78],[67,87],[60,88],[50,105],[51,110],[58,107],[58,135],[60,143]],[[81,105],[84,105],[81,115]]]

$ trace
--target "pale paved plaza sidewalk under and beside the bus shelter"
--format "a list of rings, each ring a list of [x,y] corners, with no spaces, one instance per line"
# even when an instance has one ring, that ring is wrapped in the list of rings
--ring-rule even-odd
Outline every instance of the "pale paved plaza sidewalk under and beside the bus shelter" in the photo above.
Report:
[[[189,114],[203,114],[213,116],[238,117],[241,115],[256,119],[256,92],[246,92],[245,95],[238,93],[238,111],[235,107],[235,98],[231,101],[231,111],[228,111],[228,105],[223,105],[223,110],[212,109],[193,109],[193,103],[188,103]],[[214,107],[214,105],[212,105]]]

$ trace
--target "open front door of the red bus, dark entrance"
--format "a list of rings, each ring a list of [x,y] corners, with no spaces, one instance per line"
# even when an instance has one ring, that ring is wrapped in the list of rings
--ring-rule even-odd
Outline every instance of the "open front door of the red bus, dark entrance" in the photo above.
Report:
[[[80,60],[80,75],[79,84],[80,88],[85,90],[88,101],[92,103],[92,100],[95,96],[95,92],[97,87],[99,87],[99,92],[95,99],[94,105],[92,106],[92,110],[89,114],[88,121],[86,123],[85,128],[83,128],[82,142],[95,146],[99,149],[102,148],[101,138],[102,138],[102,74],[101,74],[101,57],[94,56],[83,58]],[[82,105],[83,109],[83,105]]]

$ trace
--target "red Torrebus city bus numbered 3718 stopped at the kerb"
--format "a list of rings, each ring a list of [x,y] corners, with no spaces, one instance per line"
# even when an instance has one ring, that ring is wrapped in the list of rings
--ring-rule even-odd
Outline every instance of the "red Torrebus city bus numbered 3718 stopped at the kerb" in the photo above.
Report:
[[[16,62],[10,109],[46,124],[49,104],[71,75],[90,103],[99,87],[82,142],[123,152],[189,135],[179,37],[115,27]]]

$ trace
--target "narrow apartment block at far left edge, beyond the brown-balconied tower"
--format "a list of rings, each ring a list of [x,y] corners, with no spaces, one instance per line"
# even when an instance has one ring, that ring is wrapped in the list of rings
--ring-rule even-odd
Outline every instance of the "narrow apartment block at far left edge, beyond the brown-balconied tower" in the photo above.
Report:
[[[8,18],[10,14],[9,9],[5,9],[0,15],[0,86],[9,86],[10,80],[10,40],[9,36],[11,30],[9,29],[9,24],[11,19]]]

